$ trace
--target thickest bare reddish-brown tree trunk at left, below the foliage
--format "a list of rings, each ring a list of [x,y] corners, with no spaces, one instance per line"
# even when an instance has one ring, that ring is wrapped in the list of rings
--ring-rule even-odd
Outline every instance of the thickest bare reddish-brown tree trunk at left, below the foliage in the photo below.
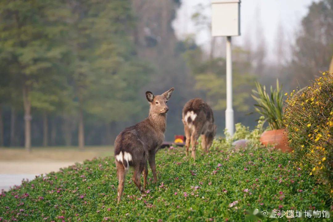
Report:
[[[24,146],[27,151],[31,151],[31,102],[29,100],[29,88],[23,87],[23,107],[24,107]]]

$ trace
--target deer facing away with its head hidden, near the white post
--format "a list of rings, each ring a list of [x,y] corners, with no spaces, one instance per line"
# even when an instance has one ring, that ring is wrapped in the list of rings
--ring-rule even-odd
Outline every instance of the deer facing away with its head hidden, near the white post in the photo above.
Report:
[[[196,140],[201,135],[201,146],[205,152],[208,152],[213,142],[216,125],[211,108],[201,99],[191,99],[188,101],[182,111],[182,121],[186,136],[186,156],[191,143],[192,157],[195,160]]]

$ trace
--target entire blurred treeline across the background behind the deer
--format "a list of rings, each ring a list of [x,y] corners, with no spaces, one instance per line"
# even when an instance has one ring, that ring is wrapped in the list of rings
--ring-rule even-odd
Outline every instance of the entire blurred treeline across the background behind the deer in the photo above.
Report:
[[[181,1],[0,0],[0,146],[113,144],[148,113],[145,91],[175,87],[166,139],[183,134],[182,106],[201,97],[224,127],[223,41],[204,51],[194,36],[178,40],[171,23]],[[280,78],[286,89],[307,85],[333,54],[332,2],[309,7],[291,61],[265,63],[264,44],[233,48],[235,121],[247,116],[253,82]],[[198,28],[210,22],[199,10]],[[263,35],[262,33],[260,33]],[[281,35],[279,34],[279,39]],[[264,43],[264,36],[260,38]],[[281,40],[277,48],[286,44]],[[308,62],[312,61],[312,62]],[[326,70],[325,68],[324,70]],[[274,80],[275,82],[275,80]]]

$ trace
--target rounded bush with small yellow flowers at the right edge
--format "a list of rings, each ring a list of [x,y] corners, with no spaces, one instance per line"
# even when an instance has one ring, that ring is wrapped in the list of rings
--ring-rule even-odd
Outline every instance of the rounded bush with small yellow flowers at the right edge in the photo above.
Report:
[[[293,157],[333,192],[333,74],[290,93],[285,126]]]

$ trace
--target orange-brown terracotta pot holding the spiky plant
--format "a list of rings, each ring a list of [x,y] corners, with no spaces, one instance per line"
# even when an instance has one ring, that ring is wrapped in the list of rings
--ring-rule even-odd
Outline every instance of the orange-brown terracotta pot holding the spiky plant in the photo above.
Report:
[[[288,146],[288,139],[284,129],[274,129],[263,132],[260,136],[260,142],[264,145],[274,145],[276,149],[281,149],[282,152],[292,151]]]

